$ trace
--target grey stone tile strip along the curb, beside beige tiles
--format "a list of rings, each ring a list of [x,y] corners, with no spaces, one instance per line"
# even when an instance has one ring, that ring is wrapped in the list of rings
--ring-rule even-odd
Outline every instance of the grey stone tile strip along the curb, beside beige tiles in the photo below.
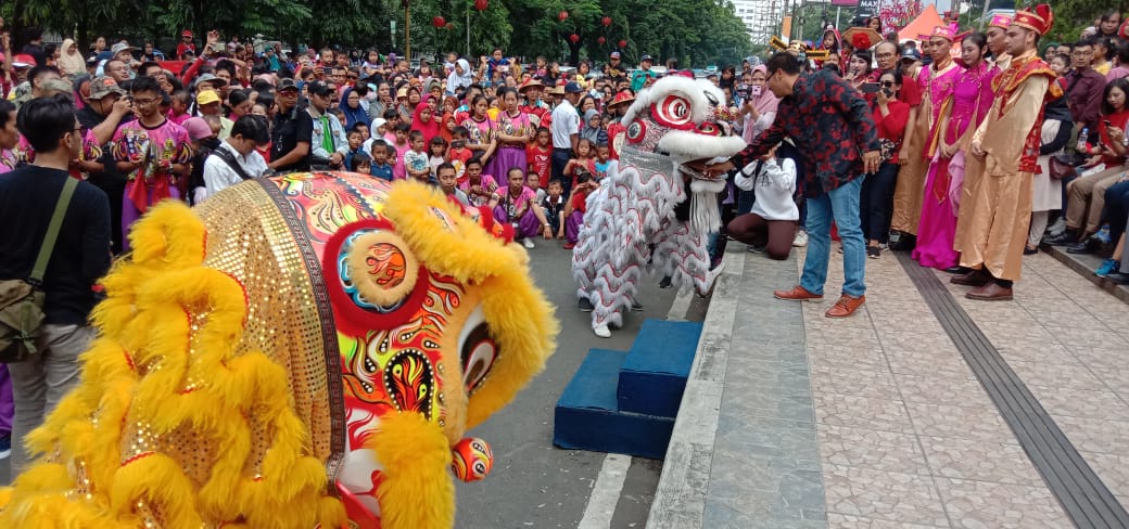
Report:
[[[795,261],[732,245],[724,263],[647,528],[825,528],[803,315],[759,299],[797,280]]]

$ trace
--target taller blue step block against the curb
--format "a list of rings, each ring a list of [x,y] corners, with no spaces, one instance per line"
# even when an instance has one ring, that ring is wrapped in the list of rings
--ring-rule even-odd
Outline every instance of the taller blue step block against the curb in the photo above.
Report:
[[[676,416],[701,334],[695,321],[644,321],[620,369],[619,409]]]

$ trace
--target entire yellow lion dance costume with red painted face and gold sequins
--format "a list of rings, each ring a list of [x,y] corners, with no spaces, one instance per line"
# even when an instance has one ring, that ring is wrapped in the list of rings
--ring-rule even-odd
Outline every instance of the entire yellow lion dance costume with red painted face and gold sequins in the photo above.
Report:
[[[464,433],[558,333],[509,228],[473,213],[349,174],[152,209],[0,527],[452,527],[447,473],[492,466]]]

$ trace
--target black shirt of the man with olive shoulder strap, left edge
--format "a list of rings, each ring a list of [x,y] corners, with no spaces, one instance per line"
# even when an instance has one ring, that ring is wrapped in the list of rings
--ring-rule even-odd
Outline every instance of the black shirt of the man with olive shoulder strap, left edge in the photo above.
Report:
[[[70,178],[26,166],[0,175],[0,279],[26,280]],[[43,277],[46,323],[86,325],[97,302],[94,283],[110,271],[110,200],[87,182],[75,188]]]

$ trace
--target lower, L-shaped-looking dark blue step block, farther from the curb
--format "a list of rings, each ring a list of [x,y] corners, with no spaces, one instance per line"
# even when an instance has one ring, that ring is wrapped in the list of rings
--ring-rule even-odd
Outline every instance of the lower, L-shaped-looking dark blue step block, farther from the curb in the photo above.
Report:
[[[628,353],[588,352],[553,413],[553,444],[560,448],[627,453],[651,459],[666,456],[674,417],[616,409],[615,387]]]

